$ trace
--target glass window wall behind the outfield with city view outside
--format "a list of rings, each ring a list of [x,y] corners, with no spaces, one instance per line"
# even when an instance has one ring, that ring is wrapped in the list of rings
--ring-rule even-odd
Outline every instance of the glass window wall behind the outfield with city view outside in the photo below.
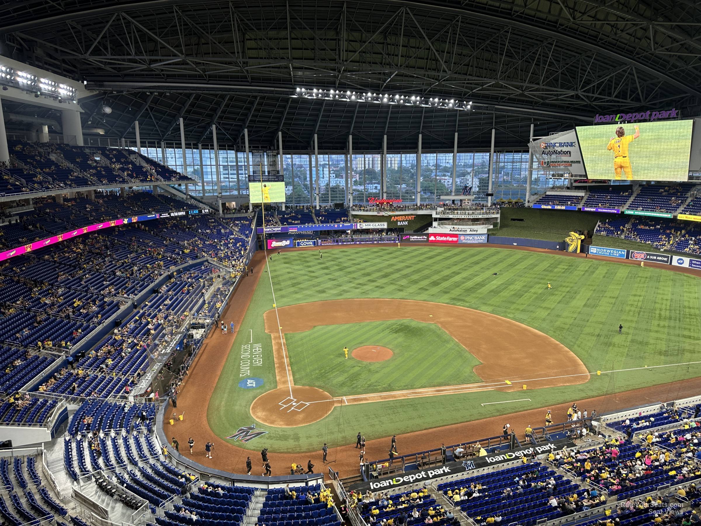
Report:
[[[200,194],[204,181],[205,195],[217,194],[217,171],[214,150],[211,144],[202,147],[186,145],[186,172],[197,181],[190,188],[191,193]],[[134,148],[135,149],[135,148]],[[142,147],[142,153],[161,162],[160,142],[149,142]],[[497,152],[494,154],[493,191],[495,199],[525,199],[528,176],[528,154],[526,152]],[[486,201],[489,188],[489,153],[458,152],[456,165],[456,194],[464,187],[472,187],[474,201]],[[379,153],[358,153],[349,163],[351,168],[350,188],[354,203],[367,203],[370,197],[380,198],[382,156]],[[421,156],[421,202],[436,203],[440,196],[452,191],[451,153],[424,152]],[[165,164],[174,170],[183,171],[182,149],[179,143],[165,143]],[[222,147],[219,150],[219,173],[223,195],[247,194],[247,166],[245,153],[238,152],[238,177],[236,173],[237,154],[235,149]],[[249,165],[250,166],[250,165]],[[313,181],[310,188],[310,172],[314,177],[313,154],[285,154],[283,174],[287,203],[294,205],[315,204]],[[402,199],[404,203],[416,201],[416,153],[390,153],[386,157],[386,194],[391,199]],[[319,203],[327,206],[346,201],[346,155],[319,154]],[[564,184],[562,179],[545,177],[537,161],[533,161],[533,194],[542,193],[548,188]]]

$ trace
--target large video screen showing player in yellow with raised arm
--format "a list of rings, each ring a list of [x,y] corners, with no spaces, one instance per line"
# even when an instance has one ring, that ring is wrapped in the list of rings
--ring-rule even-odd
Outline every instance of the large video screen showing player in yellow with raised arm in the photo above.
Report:
[[[591,179],[686,181],[693,120],[577,126]]]

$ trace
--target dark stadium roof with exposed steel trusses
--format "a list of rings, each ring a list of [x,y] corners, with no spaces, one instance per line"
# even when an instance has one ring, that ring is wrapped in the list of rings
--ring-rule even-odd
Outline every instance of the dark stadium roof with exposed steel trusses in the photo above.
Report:
[[[599,112],[701,104],[693,0],[23,0],[0,6],[0,54],[99,90],[83,126],[142,140],[285,149],[524,147]],[[291,98],[325,88],[472,100],[474,110]],[[11,112],[36,108],[14,105]],[[113,109],[103,114],[103,104]],[[48,111],[48,110],[46,110]],[[40,112],[41,113],[41,112]]]

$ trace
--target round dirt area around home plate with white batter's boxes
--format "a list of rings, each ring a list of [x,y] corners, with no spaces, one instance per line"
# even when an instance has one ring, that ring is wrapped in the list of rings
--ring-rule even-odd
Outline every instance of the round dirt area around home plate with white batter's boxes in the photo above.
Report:
[[[253,400],[251,414],[266,426],[306,426],[326,417],[339,402],[316,387],[296,385],[291,396],[287,387],[261,394]]]

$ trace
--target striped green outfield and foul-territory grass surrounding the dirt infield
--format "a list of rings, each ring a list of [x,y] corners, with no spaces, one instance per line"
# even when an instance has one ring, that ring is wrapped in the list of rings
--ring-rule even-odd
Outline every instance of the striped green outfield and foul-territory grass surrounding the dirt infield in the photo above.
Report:
[[[316,251],[283,252],[273,255],[270,267],[278,306],[389,297],[480,309],[550,335],[576,353],[592,372],[690,362],[700,356],[701,281],[688,274],[505,248],[445,246],[327,250],[322,261]],[[498,276],[493,276],[494,272]],[[550,291],[546,290],[547,281],[553,285]],[[207,408],[210,427],[222,438],[240,426],[253,424],[249,412],[252,400],[275,388],[271,337],[264,332],[263,322],[263,313],[272,304],[265,274]],[[622,335],[618,335],[619,323],[624,326]],[[257,389],[241,389],[241,349],[249,345],[251,335],[254,344],[261,344],[263,363],[251,367],[250,376],[264,379],[265,384]],[[419,338],[428,345],[433,335]],[[326,366],[323,359],[315,357],[318,363],[312,361],[307,365],[308,373],[301,368],[298,372],[293,363],[296,384],[301,384],[299,374],[311,374],[316,367]],[[435,361],[417,360],[416,367],[442,366],[447,374],[454,370],[454,364],[447,360]],[[308,426],[275,428],[256,423],[268,435],[237,445],[251,450],[265,445],[281,452],[318,450],[323,442],[331,446],[352,443],[361,430],[370,440],[697,376],[701,376],[699,365],[683,365],[594,375],[578,386],[529,390],[527,397],[483,391],[340,406]],[[393,389],[389,382],[379,384],[377,378],[353,378],[353,382],[364,392],[371,387],[378,391]],[[690,394],[675,392],[674,396]],[[531,398],[531,402],[480,405],[513,398]]]

